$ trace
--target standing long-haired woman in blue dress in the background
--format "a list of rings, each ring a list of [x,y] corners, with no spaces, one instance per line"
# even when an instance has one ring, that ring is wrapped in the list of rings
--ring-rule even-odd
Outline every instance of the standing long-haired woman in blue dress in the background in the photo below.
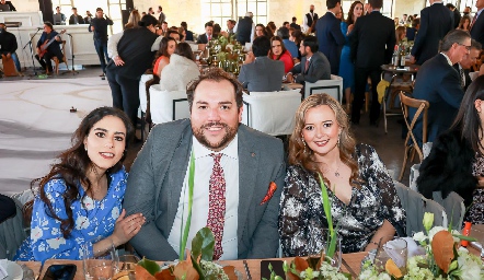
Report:
[[[355,88],[355,66],[350,59],[350,47],[348,35],[352,33],[355,26],[356,20],[361,16],[364,11],[364,4],[360,1],[353,2],[348,11],[348,18],[342,21],[342,33],[346,38],[346,43],[342,48],[342,55],[339,58],[339,72],[338,75],[343,78],[343,89],[345,91],[346,112],[350,110],[352,92]]]

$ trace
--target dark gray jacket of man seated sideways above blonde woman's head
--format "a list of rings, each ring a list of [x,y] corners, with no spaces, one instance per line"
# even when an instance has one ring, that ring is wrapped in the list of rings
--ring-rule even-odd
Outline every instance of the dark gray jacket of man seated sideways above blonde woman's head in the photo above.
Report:
[[[316,51],[312,55],[311,60],[309,60],[308,71],[304,71],[306,60],[307,58],[302,57],[301,62],[289,70],[289,72],[298,74],[296,77],[297,83],[303,83],[304,81],[315,83],[319,80],[331,80],[330,61],[323,52]]]

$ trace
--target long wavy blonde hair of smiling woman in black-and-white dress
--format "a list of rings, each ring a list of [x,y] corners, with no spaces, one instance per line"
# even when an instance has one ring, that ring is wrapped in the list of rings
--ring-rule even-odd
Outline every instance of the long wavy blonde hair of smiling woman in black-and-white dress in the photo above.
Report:
[[[314,175],[321,174],[324,182],[331,185],[331,182],[324,177],[323,172],[319,168],[318,163],[314,159],[314,152],[307,145],[304,145],[304,141],[302,139],[302,129],[304,128],[306,113],[310,108],[322,105],[330,106],[336,117],[336,122],[338,124],[341,129],[338,144],[339,159],[352,170],[352,175],[349,176],[350,185],[358,187],[358,185],[355,184],[355,182],[359,180],[358,163],[353,158],[353,154],[355,153],[356,141],[352,132],[349,131],[348,115],[346,115],[342,105],[329,94],[323,93],[310,95],[302,101],[301,105],[296,112],[296,127],[289,139],[289,164],[301,165],[307,171],[312,172]]]

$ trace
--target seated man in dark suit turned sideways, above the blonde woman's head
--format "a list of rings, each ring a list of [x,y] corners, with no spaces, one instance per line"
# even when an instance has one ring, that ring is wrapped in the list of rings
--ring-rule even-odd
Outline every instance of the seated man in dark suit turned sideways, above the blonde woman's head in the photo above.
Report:
[[[314,36],[307,36],[299,47],[301,62],[296,65],[287,73],[287,81],[304,84],[306,81],[315,83],[319,80],[331,79],[331,66],[327,58],[318,51],[318,39]]]

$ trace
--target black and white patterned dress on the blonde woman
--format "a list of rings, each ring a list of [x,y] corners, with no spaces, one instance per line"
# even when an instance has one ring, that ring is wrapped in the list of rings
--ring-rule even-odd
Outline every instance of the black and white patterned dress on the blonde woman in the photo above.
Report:
[[[358,161],[362,183],[357,184],[360,187],[353,188],[347,206],[336,196],[330,196],[333,224],[338,224],[343,253],[364,250],[384,220],[395,228],[400,236],[406,236],[405,210],[383,162],[367,144],[358,144],[354,156]],[[310,236],[321,241],[325,228],[327,222],[318,178],[300,165],[289,166],[279,213],[284,255],[308,256]]]

